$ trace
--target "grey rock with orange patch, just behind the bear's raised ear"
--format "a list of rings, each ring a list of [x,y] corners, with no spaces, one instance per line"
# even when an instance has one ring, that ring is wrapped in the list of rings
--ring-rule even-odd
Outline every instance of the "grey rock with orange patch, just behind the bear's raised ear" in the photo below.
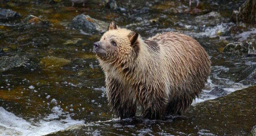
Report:
[[[82,29],[84,32],[89,34],[95,34],[107,31],[108,23],[91,18],[88,15],[81,14],[77,15],[69,24],[69,26],[75,29]]]

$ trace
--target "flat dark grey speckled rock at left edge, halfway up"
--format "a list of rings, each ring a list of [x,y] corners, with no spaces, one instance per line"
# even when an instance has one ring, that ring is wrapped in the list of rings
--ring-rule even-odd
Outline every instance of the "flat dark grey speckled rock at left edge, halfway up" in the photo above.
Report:
[[[0,72],[24,66],[28,62],[28,58],[26,57],[10,57],[10,56],[2,56],[0,57]]]

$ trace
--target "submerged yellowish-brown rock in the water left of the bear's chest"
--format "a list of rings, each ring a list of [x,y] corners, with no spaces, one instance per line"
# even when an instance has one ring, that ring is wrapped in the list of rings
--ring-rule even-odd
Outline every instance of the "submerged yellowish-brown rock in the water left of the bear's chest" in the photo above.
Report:
[[[47,68],[58,68],[66,64],[69,64],[70,62],[71,60],[49,56],[41,58],[40,64],[43,65],[43,67]]]

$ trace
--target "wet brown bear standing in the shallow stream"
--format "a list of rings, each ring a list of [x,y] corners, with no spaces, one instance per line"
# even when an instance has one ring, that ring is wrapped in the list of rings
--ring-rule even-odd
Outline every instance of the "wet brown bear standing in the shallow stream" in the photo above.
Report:
[[[93,49],[105,73],[107,100],[121,119],[135,116],[137,106],[144,118],[182,115],[210,71],[204,48],[178,32],[142,39],[112,21]]]

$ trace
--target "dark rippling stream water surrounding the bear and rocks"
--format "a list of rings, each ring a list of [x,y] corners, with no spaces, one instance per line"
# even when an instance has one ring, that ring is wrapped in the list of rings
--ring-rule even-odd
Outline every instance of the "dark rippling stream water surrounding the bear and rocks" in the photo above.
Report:
[[[68,0],[0,1],[1,8],[21,14],[0,24],[0,57],[29,59],[23,67],[0,71],[0,135],[248,135],[248,130],[232,133],[193,125],[196,115],[190,112],[170,116],[167,121],[142,119],[139,113],[132,119],[115,119],[107,106],[104,74],[92,51],[92,44],[102,34],[88,34],[68,25],[84,13],[105,22],[116,20],[117,25],[136,30],[143,37],[163,31],[192,36],[212,63],[204,93],[193,103],[197,105],[216,98],[207,93],[217,86],[231,93],[256,85],[244,80],[255,68],[256,57],[223,52],[227,43],[256,38],[255,28],[240,27],[230,20],[232,11],[243,2],[206,0],[199,5],[201,12],[185,13],[188,1],[181,0],[117,1],[117,10],[96,0],[88,1],[85,7],[71,7]],[[49,23],[22,24],[29,15]],[[252,121],[255,125],[255,116]],[[180,125],[182,122],[185,125]]]

